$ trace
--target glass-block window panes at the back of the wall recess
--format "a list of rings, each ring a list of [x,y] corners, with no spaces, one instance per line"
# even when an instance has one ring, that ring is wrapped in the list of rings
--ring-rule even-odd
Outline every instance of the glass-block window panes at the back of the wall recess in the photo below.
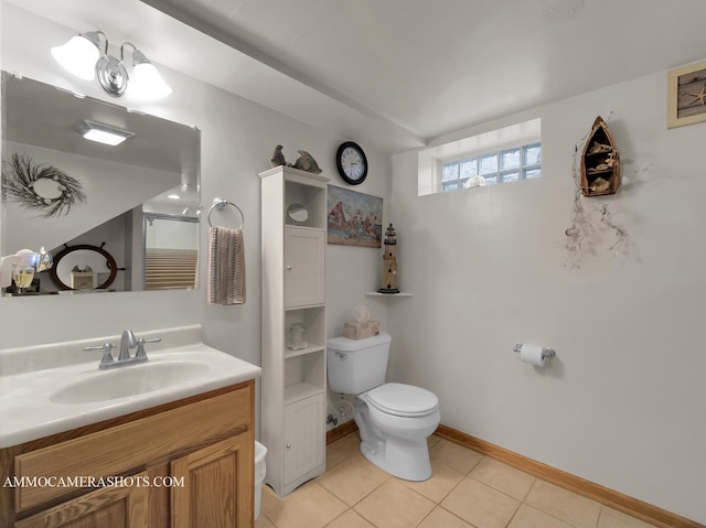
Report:
[[[441,192],[542,176],[542,143],[441,162]]]

